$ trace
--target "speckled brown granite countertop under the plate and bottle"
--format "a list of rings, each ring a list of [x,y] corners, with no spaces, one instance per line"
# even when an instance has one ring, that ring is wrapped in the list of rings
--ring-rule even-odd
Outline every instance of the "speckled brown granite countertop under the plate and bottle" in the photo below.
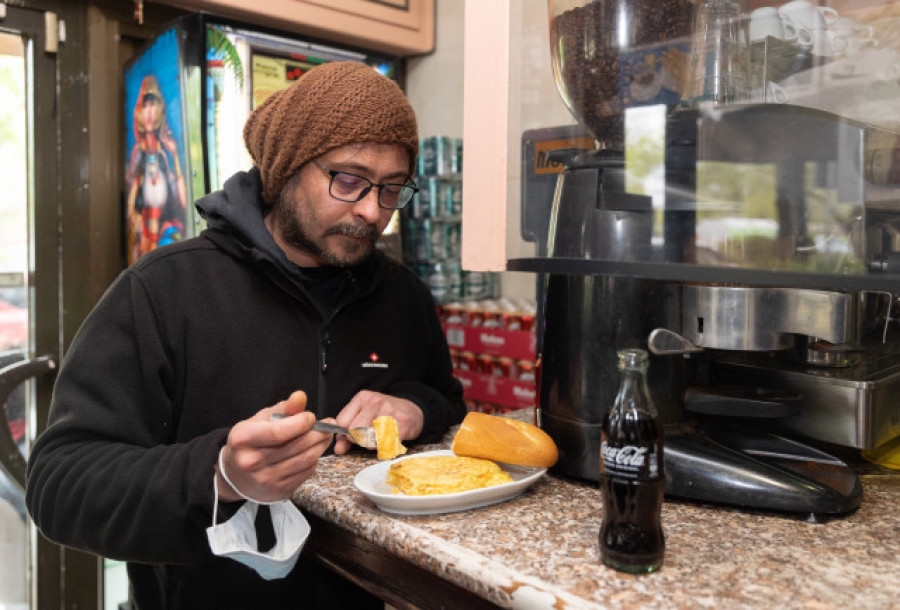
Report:
[[[411,453],[446,449],[450,438]],[[600,563],[595,484],[547,475],[501,504],[396,516],[380,511],[353,484],[375,463],[371,452],[325,457],[294,500],[499,606],[900,607],[900,472],[861,474],[860,508],[825,523],[667,499],[664,565],[633,576]]]

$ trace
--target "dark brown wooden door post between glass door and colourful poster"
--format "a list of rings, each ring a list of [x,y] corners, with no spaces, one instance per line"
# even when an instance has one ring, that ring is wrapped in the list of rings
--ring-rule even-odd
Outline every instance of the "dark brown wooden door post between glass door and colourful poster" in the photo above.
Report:
[[[149,8],[153,5],[147,5]],[[122,0],[19,0],[5,22],[34,41],[35,249],[32,281],[33,350],[62,360],[84,318],[125,267],[121,175],[124,167],[123,72],[130,40],[148,39],[181,14],[171,7],[145,12],[144,24]],[[44,13],[64,32],[45,51]],[[19,20],[27,21],[19,29]],[[48,238],[48,236],[52,236]],[[36,381],[36,430],[46,427],[52,376]],[[32,598],[38,609],[101,608],[103,564],[92,554],[58,546],[34,532]],[[36,580],[34,580],[36,579]]]

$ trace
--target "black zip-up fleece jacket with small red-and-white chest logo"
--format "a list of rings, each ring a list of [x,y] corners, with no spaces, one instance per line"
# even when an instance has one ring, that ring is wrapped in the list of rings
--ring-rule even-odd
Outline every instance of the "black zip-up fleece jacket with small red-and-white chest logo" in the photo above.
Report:
[[[266,582],[210,553],[213,465],[237,421],[297,389],[320,418],[362,389],[407,398],[425,415],[417,442],[465,414],[428,289],[376,253],[335,271],[334,304],[317,305],[266,230],[259,191],[255,169],[236,174],[197,202],[200,236],[116,279],[65,355],[31,451],[40,531],[130,562],[140,608],[316,605],[308,575]]]

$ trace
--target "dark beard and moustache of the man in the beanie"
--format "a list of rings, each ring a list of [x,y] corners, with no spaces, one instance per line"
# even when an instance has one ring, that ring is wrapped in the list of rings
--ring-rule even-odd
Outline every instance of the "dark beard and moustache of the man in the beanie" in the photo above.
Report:
[[[321,231],[315,213],[298,205],[294,189],[285,189],[275,207],[275,221],[284,242],[298,250],[311,254],[326,265],[350,267],[362,262],[375,249],[378,229],[374,225],[342,223]],[[316,240],[312,235],[321,232]],[[341,250],[329,249],[325,238],[346,235],[364,241],[347,241]]]

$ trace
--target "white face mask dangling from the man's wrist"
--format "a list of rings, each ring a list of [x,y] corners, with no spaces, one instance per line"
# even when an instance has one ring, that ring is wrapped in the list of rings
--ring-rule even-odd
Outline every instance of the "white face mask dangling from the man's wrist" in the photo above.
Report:
[[[272,527],[275,530],[275,546],[262,553],[256,545],[256,511],[259,504],[253,501],[244,505],[225,523],[216,524],[219,508],[219,488],[213,479],[215,490],[213,524],[206,528],[209,548],[213,554],[239,561],[266,580],[287,576],[300,557],[303,544],[309,537],[309,523],[290,500],[269,504]]]

